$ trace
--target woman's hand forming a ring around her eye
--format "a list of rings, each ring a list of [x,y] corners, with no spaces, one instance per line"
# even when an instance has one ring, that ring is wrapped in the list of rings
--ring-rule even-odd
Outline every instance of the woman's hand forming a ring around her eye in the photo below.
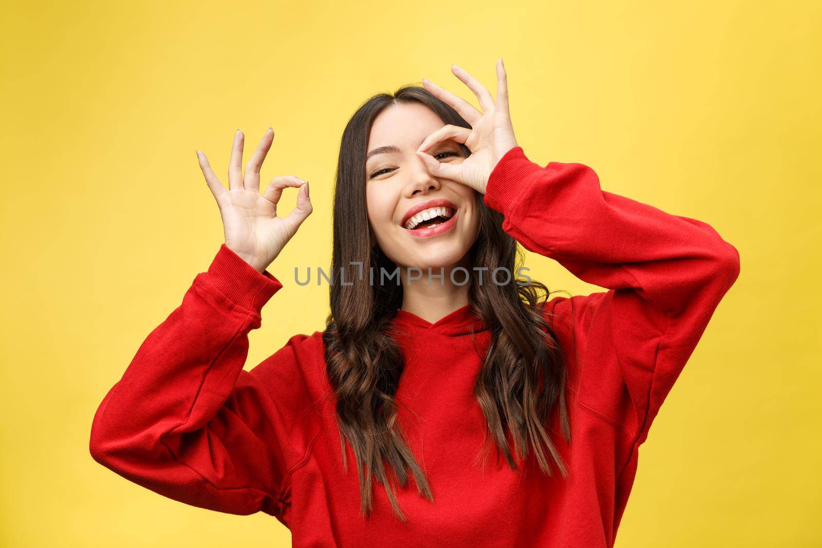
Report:
[[[433,176],[459,182],[485,194],[488,177],[496,163],[506,152],[518,146],[508,110],[506,69],[502,59],[496,62],[496,101],[468,72],[456,65],[451,65],[451,71],[477,96],[483,112],[479,112],[465,99],[423,78],[425,89],[446,104],[450,104],[466,122],[469,122],[471,129],[450,124],[441,127],[423,140],[417,154]],[[426,153],[432,146],[446,139],[463,143],[469,148],[471,155],[460,163],[450,163],[438,162],[431,154]]]

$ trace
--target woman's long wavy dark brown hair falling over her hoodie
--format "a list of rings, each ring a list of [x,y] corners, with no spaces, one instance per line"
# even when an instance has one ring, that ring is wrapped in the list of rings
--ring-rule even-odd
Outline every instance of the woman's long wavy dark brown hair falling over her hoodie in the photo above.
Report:
[[[376,479],[385,487],[391,506],[402,520],[406,518],[397,504],[390,471],[400,486],[408,485],[410,473],[420,495],[431,502],[433,495],[397,421],[395,395],[404,363],[388,328],[402,305],[403,289],[398,283],[369,281],[369,268],[373,267],[375,273],[381,268],[393,272],[396,265],[379,245],[372,246],[365,163],[368,136],[377,114],[391,105],[413,101],[431,108],[446,124],[471,127],[448,104],[416,85],[401,87],[394,94],[376,94],[353,113],[339,147],[331,310],[323,334],[328,377],[335,390],[343,465],[347,470],[348,440],[357,460],[360,509],[365,515],[371,513],[372,482]],[[466,155],[470,154],[467,147],[461,146]],[[484,205],[482,195],[476,198],[480,230],[469,251],[471,265],[487,267],[487,272],[505,267],[513,277],[523,256],[514,238],[502,229],[502,215]],[[340,276],[344,283],[339,283]],[[487,421],[483,455],[487,457],[490,449],[490,434],[497,455],[501,451],[512,470],[518,467],[515,455],[524,460],[533,451],[539,467],[550,476],[544,445],[565,477],[566,467],[546,431],[549,417],[559,412],[563,435],[570,441],[566,365],[540,306],[549,291],[533,280],[498,285],[478,283],[477,278],[472,274],[469,281],[470,307],[491,332],[491,343],[473,390]]]

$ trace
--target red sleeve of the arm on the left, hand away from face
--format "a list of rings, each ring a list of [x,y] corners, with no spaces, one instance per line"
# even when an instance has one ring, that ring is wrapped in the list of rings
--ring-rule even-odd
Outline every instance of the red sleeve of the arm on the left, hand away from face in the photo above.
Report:
[[[92,457],[173,500],[283,521],[296,451],[262,370],[242,369],[248,333],[279,288],[220,246],[100,403]],[[284,348],[267,363],[287,368],[289,356]],[[299,387],[277,387],[291,389]]]

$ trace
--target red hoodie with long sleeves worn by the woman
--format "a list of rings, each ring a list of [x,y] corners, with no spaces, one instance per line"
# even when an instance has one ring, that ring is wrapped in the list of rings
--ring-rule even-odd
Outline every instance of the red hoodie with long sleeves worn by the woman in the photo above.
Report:
[[[543,168],[520,147],[496,165],[484,200],[529,251],[608,289],[543,309],[570,368],[570,444],[551,426],[568,477],[553,465],[546,477],[533,454],[520,472],[493,451],[475,463],[486,423],[473,385],[488,331],[470,306],[433,324],[399,311],[399,422],[435,500],[413,481],[398,486],[403,523],[377,484],[364,518],[348,444],[348,472],[341,463],[321,332],[243,370],[248,333],[282,284],[224,245],[100,403],[91,455],[174,500],[269,513],[293,546],[612,546],[640,444],[739,255],[709,224],[603,191],[580,163]]]

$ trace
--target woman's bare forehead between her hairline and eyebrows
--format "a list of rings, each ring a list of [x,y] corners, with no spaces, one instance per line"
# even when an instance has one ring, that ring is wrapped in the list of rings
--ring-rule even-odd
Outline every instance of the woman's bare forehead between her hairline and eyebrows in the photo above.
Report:
[[[395,104],[379,113],[368,136],[368,150],[378,146],[396,145],[417,148],[432,131],[446,124],[424,104]]]

